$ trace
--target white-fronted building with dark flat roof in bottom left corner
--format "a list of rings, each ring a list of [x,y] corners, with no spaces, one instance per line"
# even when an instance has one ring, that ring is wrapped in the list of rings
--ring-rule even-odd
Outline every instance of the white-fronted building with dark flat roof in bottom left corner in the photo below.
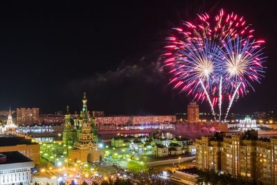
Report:
[[[28,185],[32,182],[30,168],[35,164],[17,151],[0,152],[0,184]]]

